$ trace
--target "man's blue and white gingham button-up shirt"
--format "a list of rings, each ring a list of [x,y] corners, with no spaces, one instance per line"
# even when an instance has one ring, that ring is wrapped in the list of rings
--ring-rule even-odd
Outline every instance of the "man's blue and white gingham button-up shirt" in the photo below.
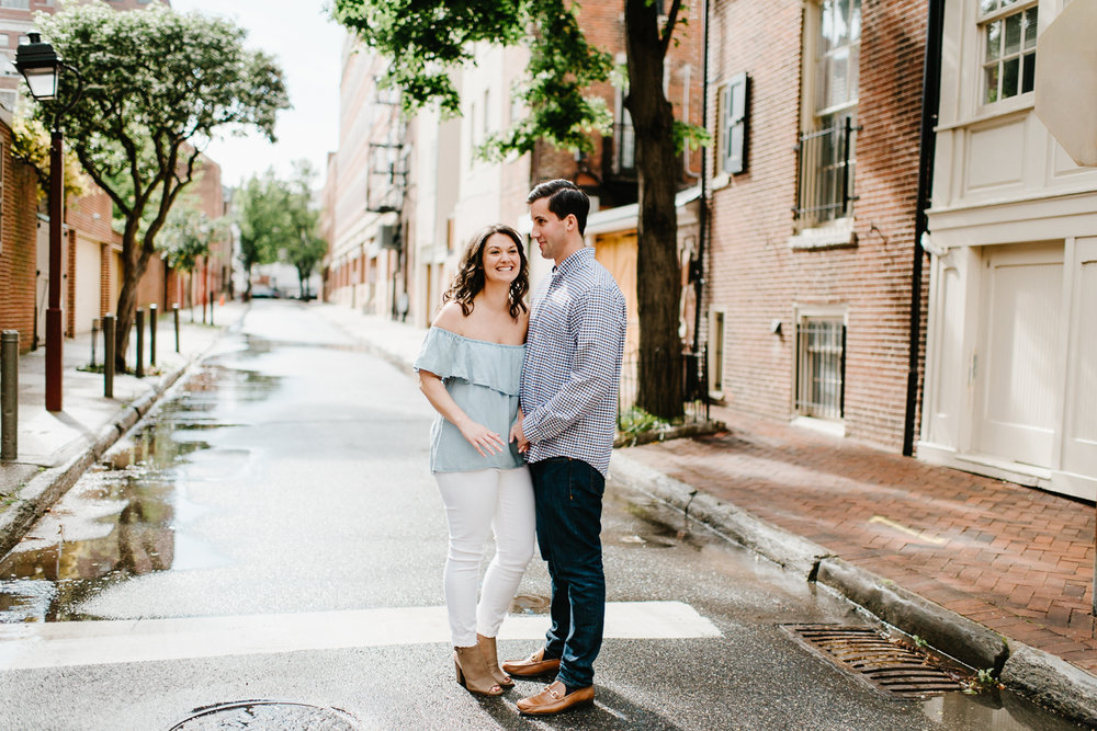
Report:
[[[609,471],[626,323],[624,296],[593,249],[538,287],[520,388],[529,461],[573,457]]]

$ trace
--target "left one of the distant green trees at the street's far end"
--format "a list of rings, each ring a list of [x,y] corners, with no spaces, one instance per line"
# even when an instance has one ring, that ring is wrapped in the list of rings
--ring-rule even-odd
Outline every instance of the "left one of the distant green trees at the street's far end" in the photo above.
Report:
[[[273,169],[252,175],[234,197],[236,222],[240,228],[240,265],[246,279],[244,299],[251,298],[251,270],[278,260],[290,236],[292,221],[286,209],[285,186]]]

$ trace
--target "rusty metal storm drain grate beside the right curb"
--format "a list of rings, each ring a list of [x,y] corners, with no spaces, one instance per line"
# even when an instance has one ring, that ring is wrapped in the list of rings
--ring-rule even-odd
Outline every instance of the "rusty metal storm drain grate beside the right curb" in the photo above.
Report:
[[[929,655],[892,642],[869,627],[784,625],[801,643],[878,690],[901,698],[924,698],[962,690],[959,681],[932,664]]]

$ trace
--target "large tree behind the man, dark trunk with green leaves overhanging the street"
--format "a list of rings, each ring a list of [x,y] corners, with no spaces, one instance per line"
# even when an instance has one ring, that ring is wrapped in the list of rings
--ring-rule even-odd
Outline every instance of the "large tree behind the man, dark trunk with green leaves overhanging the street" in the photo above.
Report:
[[[654,0],[622,1],[629,59],[625,105],[636,132],[640,180],[637,403],[672,419],[682,413],[683,386],[677,153],[689,138],[703,139],[704,133],[676,122],[663,91],[664,59],[675,30],[685,22],[681,0],[672,0],[661,24]],[[450,73],[474,60],[473,44],[529,46],[525,83],[518,91],[529,114],[488,141],[483,148],[488,157],[528,152],[539,140],[590,151],[591,130],[604,130],[609,122],[601,100],[585,96],[591,83],[609,77],[609,54],[587,43],[577,5],[568,0],[335,0],[335,15],[391,59],[383,83],[403,91],[406,112],[439,102],[443,112],[460,113]]]

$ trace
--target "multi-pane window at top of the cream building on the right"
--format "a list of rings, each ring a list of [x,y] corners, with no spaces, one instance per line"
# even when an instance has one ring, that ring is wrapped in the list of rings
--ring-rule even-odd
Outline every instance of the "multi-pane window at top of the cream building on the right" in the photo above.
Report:
[[[980,0],[983,20],[983,103],[991,104],[1033,89],[1037,5],[1017,0]]]

